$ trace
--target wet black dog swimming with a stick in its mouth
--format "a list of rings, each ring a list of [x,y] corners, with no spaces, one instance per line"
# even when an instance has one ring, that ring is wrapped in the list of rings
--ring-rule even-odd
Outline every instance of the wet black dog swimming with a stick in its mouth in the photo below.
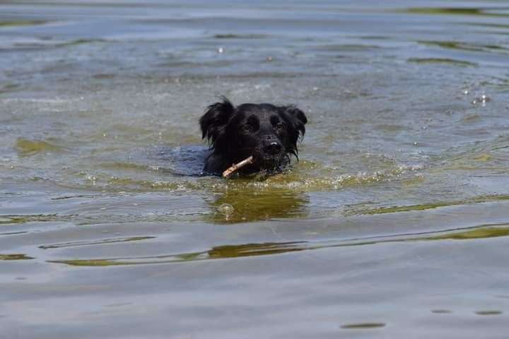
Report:
[[[290,154],[297,157],[297,141],[304,136],[307,122],[305,114],[292,105],[234,107],[223,97],[199,119],[201,137],[208,139],[212,151],[205,159],[204,173],[221,175],[250,155],[254,162],[242,167],[242,174],[279,172],[290,163]]]

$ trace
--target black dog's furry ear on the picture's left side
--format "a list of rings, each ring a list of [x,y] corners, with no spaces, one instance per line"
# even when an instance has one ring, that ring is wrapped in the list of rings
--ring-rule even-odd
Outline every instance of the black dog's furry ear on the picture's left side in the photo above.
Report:
[[[201,138],[207,138],[212,145],[216,143],[218,136],[221,135],[235,112],[235,107],[231,102],[226,97],[222,97],[222,99],[223,102],[216,102],[207,107],[205,114],[199,119]]]

